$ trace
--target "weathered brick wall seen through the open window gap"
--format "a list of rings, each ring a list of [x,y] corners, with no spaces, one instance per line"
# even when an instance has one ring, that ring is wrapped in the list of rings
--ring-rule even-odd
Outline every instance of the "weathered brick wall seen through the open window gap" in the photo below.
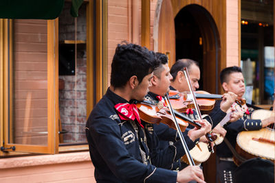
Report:
[[[69,14],[71,3],[65,3],[63,12],[59,16],[58,39],[75,40],[75,19]],[[77,40],[86,40],[86,6],[82,5],[78,11]],[[74,44],[70,45],[74,49]],[[76,75],[60,75],[59,79],[65,83],[65,88],[59,90],[59,110],[64,143],[86,142],[86,70],[87,57],[85,44],[77,45]]]

